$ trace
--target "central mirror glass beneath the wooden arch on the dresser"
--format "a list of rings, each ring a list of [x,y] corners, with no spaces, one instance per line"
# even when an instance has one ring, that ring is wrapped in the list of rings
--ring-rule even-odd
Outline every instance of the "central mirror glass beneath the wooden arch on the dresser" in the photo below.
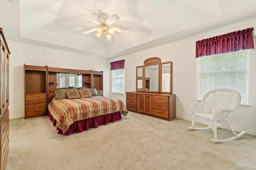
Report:
[[[145,91],[158,91],[159,66],[145,66]]]

